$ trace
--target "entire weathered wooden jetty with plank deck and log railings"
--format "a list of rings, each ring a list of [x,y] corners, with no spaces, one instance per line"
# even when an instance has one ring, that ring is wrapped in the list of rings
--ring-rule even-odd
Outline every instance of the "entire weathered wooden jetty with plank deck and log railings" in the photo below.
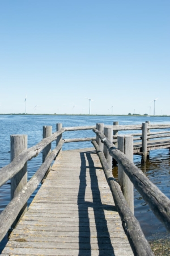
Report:
[[[0,214],[0,241],[11,230],[2,255],[154,256],[134,216],[134,187],[169,232],[170,200],[135,166],[133,154],[141,155],[145,164],[148,151],[170,148],[169,129],[149,122],[82,127],[57,123],[54,133],[52,126],[43,126],[42,141],[28,149],[27,135],[11,135],[11,163],[0,172],[0,186],[11,180],[11,201]],[[62,137],[77,130],[92,130],[95,137]],[[128,130],[142,133],[118,134]],[[64,143],[84,141],[94,147],[62,151]],[[41,151],[42,165],[27,181],[27,162]]]

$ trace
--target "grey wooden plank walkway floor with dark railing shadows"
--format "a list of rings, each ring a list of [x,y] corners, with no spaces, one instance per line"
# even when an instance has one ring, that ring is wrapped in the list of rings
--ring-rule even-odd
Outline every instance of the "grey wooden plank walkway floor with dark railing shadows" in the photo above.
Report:
[[[94,148],[59,154],[2,255],[134,255]]]

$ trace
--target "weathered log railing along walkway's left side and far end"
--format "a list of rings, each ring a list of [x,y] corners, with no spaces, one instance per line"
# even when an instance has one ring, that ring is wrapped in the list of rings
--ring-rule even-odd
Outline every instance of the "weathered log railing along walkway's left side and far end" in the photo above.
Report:
[[[63,143],[92,141],[91,138],[62,139],[64,131],[92,130],[95,126],[66,127],[62,128],[61,123],[57,123],[57,131],[52,134],[52,126],[43,126],[43,139],[31,148],[24,148],[22,144],[27,144],[27,135],[11,135],[11,163],[1,168],[0,187],[11,179],[11,201],[0,215],[0,241],[3,239],[10,227],[15,228],[20,217],[27,210],[27,201],[35,189],[38,187],[50,165],[61,150]],[[56,141],[56,148],[51,152],[51,143]],[[42,151],[42,165],[35,175],[27,182],[28,160],[35,158]],[[24,169],[24,171],[23,171]],[[24,181],[23,181],[24,180]],[[26,180],[26,181],[25,181]]]

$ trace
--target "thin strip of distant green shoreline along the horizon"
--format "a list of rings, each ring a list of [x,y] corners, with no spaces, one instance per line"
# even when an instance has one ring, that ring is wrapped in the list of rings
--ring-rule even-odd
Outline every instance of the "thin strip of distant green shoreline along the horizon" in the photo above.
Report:
[[[103,117],[170,117],[170,115],[109,115],[109,114],[21,114],[21,113],[18,113],[18,114],[12,114],[12,113],[8,113],[8,114],[0,114],[0,115],[80,115],[80,116],[103,116]]]

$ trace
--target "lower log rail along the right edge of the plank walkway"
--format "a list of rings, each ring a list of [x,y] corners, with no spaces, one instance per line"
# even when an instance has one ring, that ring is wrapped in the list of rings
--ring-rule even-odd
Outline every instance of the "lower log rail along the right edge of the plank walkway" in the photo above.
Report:
[[[111,189],[112,196],[118,213],[121,217],[122,226],[124,228],[125,234],[128,237],[131,249],[133,250],[134,255],[147,255],[152,256],[151,247],[146,240],[141,226],[138,220],[135,218],[134,214],[131,212],[128,204],[126,203],[125,197],[121,191],[120,185],[114,179],[112,170],[109,169],[107,160],[103,152],[100,150],[100,147],[96,143],[96,141],[92,141],[94,145],[97,155],[99,156],[101,165],[104,170],[105,177],[107,179],[109,188]]]

